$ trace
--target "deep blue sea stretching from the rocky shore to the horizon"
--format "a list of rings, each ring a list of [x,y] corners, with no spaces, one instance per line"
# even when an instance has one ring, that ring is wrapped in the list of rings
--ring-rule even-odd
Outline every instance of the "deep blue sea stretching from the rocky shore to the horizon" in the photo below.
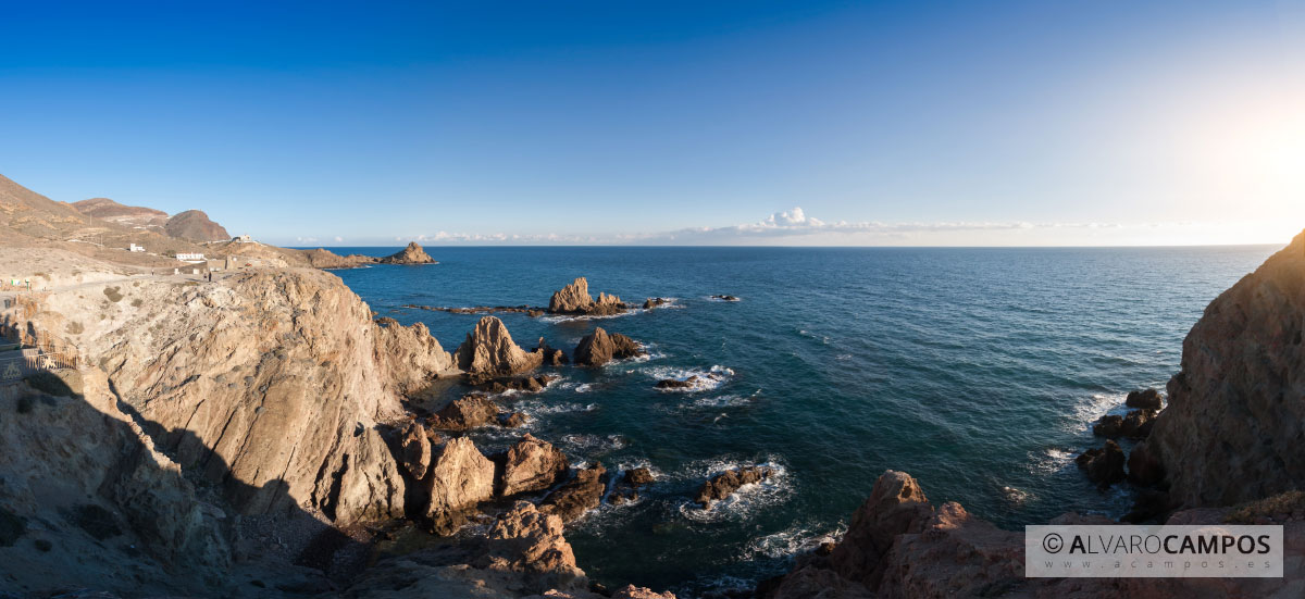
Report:
[[[603,326],[651,351],[560,368],[544,393],[501,402],[573,463],[660,475],[637,504],[568,531],[594,579],[711,596],[838,534],[887,468],[1007,529],[1122,514],[1128,493],[1098,492],[1071,462],[1095,444],[1088,423],[1130,389],[1163,390],[1206,304],[1276,249],[427,248],[438,265],[335,274],[449,351],[479,316],[402,305],[547,305],[581,275],[594,295],[676,298],[603,320],[499,315],[527,348],[544,337],[569,351]],[[719,385],[654,389],[713,371]],[[475,438],[488,453],[522,432]],[[760,462],[780,475],[710,512],[689,504],[710,475]]]

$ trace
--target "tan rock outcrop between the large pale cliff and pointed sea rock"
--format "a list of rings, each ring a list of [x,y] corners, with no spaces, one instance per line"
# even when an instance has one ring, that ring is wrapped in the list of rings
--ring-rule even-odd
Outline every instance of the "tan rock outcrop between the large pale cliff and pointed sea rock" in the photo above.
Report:
[[[376,324],[376,360],[399,393],[416,393],[436,378],[462,373],[424,324],[403,326],[394,318]]]

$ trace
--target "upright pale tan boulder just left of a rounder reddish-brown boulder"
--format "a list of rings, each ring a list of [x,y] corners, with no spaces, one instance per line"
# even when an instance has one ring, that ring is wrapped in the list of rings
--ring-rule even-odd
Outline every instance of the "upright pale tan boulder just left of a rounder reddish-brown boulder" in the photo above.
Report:
[[[431,496],[427,517],[432,529],[449,535],[476,505],[493,499],[493,462],[470,438],[453,438],[438,449],[424,483]]]

